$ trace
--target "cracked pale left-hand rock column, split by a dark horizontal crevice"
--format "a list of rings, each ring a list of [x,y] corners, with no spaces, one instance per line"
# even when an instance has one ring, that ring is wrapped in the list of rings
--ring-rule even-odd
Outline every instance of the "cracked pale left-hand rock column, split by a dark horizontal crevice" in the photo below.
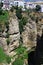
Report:
[[[9,29],[5,28],[3,33],[0,32],[0,35],[0,45],[3,47],[5,53],[14,55],[13,50],[19,46],[20,39],[19,23],[15,15],[9,19]]]

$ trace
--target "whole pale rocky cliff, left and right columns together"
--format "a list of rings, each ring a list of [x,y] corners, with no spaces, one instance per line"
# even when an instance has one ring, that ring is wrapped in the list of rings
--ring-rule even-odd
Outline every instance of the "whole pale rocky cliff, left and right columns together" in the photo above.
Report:
[[[0,46],[3,47],[7,55],[13,57],[14,55],[16,55],[16,52],[14,50],[19,47],[20,36],[22,37],[23,46],[31,49],[32,47],[36,46],[37,35],[41,36],[43,33],[42,30],[43,19],[38,20],[38,22],[36,23],[35,20],[28,18],[28,22],[24,26],[24,31],[20,35],[19,20],[17,19],[15,14],[12,14],[9,18],[8,27],[5,27],[4,31],[0,32]],[[14,62],[14,60],[15,58],[12,62]]]

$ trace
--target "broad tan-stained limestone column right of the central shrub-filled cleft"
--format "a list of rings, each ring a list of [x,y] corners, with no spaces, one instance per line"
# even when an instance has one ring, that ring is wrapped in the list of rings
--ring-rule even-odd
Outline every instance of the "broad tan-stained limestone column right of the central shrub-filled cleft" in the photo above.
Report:
[[[25,46],[36,46],[37,27],[35,21],[29,20],[25,26],[25,31],[22,33],[22,37]]]

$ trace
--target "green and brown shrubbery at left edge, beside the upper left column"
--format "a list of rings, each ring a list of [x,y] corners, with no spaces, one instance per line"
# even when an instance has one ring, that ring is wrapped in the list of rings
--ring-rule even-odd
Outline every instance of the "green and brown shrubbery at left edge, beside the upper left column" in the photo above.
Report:
[[[0,15],[0,31],[3,32],[3,30],[5,29],[5,26],[6,28],[8,29],[9,28],[9,23],[8,21],[8,18],[9,18],[9,14],[8,14],[8,11],[3,11],[4,15],[1,14]]]

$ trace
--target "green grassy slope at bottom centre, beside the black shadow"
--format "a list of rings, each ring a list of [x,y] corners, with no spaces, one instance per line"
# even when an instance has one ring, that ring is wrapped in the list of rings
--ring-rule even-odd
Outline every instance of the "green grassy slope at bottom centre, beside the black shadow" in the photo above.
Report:
[[[12,63],[12,65],[23,65],[24,59],[28,58],[26,48],[21,45],[15,51],[17,52],[18,58],[16,58],[16,60]]]

